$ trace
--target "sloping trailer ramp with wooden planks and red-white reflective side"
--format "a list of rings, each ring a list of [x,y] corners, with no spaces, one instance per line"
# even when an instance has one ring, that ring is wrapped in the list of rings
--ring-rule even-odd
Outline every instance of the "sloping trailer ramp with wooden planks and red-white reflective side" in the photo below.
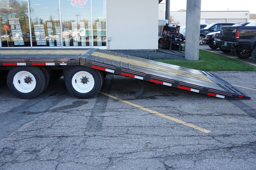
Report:
[[[85,66],[193,91],[222,99],[250,99],[225,80],[207,71],[189,69],[108,50],[90,49],[80,54]]]

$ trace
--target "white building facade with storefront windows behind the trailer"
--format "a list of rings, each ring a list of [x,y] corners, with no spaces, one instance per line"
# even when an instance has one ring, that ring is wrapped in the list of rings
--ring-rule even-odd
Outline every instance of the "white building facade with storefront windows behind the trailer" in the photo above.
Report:
[[[0,0],[0,27],[0,48],[157,49],[158,1]]]

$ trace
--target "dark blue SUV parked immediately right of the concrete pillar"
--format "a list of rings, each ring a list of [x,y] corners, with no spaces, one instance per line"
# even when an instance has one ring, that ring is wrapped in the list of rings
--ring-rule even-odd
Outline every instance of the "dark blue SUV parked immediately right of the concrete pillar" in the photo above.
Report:
[[[203,45],[205,36],[208,33],[220,31],[220,29],[223,25],[234,25],[234,23],[212,23],[212,24],[207,25],[207,27],[200,29],[199,44]]]

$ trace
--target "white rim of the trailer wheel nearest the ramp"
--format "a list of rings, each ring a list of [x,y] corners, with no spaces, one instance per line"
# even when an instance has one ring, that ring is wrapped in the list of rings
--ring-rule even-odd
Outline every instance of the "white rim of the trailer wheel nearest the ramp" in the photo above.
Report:
[[[84,82],[82,82],[82,80],[84,80]],[[73,88],[81,94],[91,91],[94,87],[94,83],[95,82],[92,74],[86,71],[79,71],[72,78]]]

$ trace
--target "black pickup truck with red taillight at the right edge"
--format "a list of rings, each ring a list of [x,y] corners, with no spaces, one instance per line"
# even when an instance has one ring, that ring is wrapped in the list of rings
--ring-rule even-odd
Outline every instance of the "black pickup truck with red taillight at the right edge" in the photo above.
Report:
[[[244,26],[223,26],[220,39],[215,40],[223,50],[231,50],[237,57],[253,57],[256,61],[256,22]]]

